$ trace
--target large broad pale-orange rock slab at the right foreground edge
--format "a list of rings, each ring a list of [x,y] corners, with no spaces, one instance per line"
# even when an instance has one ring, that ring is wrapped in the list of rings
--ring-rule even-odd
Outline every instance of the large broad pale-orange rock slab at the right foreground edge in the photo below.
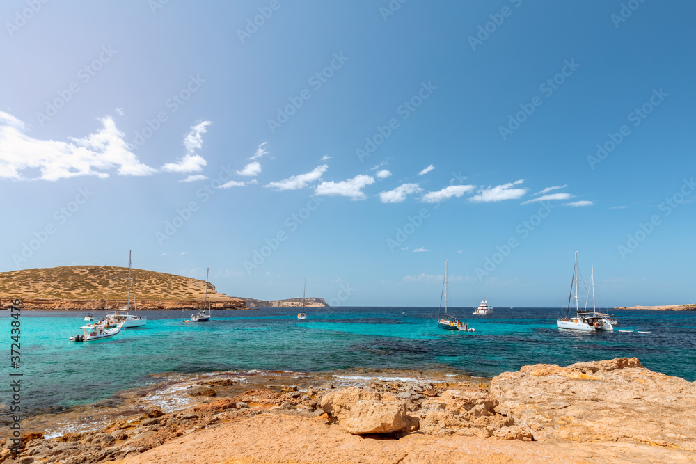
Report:
[[[523,366],[491,381],[496,413],[535,440],[635,440],[696,451],[696,385],[637,358]]]

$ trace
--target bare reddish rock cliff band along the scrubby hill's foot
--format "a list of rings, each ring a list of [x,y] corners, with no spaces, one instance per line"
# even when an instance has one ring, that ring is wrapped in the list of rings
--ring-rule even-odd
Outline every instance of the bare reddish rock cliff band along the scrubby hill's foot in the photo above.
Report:
[[[203,300],[141,300],[136,299],[139,310],[186,310],[197,311],[203,307]],[[22,300],[23,310],[49,310],[49,311],[101,311],[105,307],[112,310],[124,307],[126,300],[79,300],[63,298],[26,298]],[[11,304],[10,298],[0,297],[0,307],[7,308]],[[133,305],[133,301],[131,301]],[[229,298],[227,300],[212,301],[212,310],[246,310],[244,300]]]

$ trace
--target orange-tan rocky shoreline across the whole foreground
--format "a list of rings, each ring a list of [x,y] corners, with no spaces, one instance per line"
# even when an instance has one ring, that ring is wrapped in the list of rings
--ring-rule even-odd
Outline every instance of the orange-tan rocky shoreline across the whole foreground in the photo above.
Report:
[[[695,383],[649,371],[636,358],[525,366],[490,381],[343,376],[349,382],[340,387],[331,374],[271,373],[258,385],[248,375],[170,382],[187,397],[179,408],[124,410],[89,431],[47,440],[27,424],[19,455],[6,440],[0,463],[696,459]],[[326,383],[308,385],[315,381]]]

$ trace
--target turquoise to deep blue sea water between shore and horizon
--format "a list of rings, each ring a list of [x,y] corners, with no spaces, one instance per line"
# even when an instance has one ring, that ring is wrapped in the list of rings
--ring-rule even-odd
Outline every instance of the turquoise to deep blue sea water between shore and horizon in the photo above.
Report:
[[[145,328],[122,330],[100,342],[68,342],[81,333],[78,312],[21,316],[22,405],[31,413],[93,403],[156,381],[150,374],[249,369],[332,371],[416,369],[491,377],[523,365],[636,356],[654,371],[696,378],[696,312],[619,311],[620,330],[650,333],[574,333],[558,330],[564,310],[496,308],[473,316],[475,333],[436,326],[437,308],[308,308],[299,321],[292,308],[214,311],[209,323],[183,323],[179,311],[141,312]],[[0,334],[9,366],[10,321],[2,312]],[[100,317],[102,312],[96,312]],[[7,376],[3,375],[7,378]],[[4,383],[4,382],[3,382]],[[3,395],[6,397],[6,395]]]

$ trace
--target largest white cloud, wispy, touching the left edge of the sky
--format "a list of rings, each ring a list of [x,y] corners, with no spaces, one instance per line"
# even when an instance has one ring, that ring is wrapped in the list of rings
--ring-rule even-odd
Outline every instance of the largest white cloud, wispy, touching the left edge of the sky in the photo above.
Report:
[[[0,178],[24,180],[22,170],[28,168],[40,171],[38,179],[50,181],[82,175],[109,177],[104,171],[113,168],[119,175],[157,172],[129,150],[113,118],[99,120],[102,129],[84,138],[39,140],[26,135],[24,122],[0,111]]]

